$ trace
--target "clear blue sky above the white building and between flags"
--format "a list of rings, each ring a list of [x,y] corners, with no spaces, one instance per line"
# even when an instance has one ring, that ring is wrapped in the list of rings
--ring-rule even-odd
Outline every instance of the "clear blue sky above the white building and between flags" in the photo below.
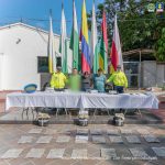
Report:
[[[103,0],[95,0],[96,6]],[[48,30],[50,9],[53,11],[54,33],[61,33],[62,2],[67,20],[67,34],[73,25],[73,0],[0,0],[0,25],[22,21],[30,25]],[[81,20],[82,0],[75,0],[78,25]],[[86,0],[87,11],[92,9],[92,0]]]

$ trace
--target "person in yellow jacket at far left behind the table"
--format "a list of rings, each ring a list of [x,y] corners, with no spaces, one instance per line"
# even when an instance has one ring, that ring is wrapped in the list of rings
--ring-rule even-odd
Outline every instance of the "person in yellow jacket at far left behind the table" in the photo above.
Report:
[[[51,87],[55,90],[63,90],[67,82],[66,76],[62,73],[62,67],[57,66],[57,72],[53,73],[51,78]]]

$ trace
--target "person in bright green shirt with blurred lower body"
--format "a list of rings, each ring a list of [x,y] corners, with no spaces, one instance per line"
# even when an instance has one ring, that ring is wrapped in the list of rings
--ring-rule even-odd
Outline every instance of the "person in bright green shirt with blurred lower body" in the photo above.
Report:
[[[80,90],[80,76],[78,75],[77,68],[73,69],[73,74],[69,77],[68,84],[73,91]]]

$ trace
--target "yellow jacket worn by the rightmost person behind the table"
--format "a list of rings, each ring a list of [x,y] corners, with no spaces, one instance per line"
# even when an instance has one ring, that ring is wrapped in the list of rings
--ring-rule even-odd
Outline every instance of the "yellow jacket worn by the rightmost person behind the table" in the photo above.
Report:
[[[128,88],[128,79],[123,72],[116,72],[113,73],[107,82],[113,82],[114,86],[122,86]]]

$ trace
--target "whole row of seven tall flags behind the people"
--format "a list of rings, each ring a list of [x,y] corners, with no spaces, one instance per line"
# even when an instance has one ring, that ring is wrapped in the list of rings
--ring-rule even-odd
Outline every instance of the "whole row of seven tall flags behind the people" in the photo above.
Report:
[[[72,29],[69,46],[67,45],[67,41],[68,40],[67,40],[67,32],[66,32],[66,19],[64,13],[64,6],[62,4],[59,53],[62,57],[63,73],[68,74],[68,65],[67,65],[68,48],[73,51],[73,68],[77,68],[81,73],[88,72],[88,73],[96,74],[98,72],[98,68],[102,68],[105,74],[107,74],[108,56],[111,58],[111,64],[110,64],[111,74],[117,70],[118,65],[121,65],[123,67],[117,15],[114,18],[112,46],[111,46],[110,55],[108,55],[109,45],[108,45],[108,35],[107,35],[106,11],[103,10],[103,14],[102,14],[101,40],[99,41],[97,34],[95,1],[92,4],[90,41],[88,35],[88,21],[87,21],[85,0],[82,0],[82,8],[81,8],[80,34],[78,33],[75,0],[73,0],[73,29]],[[81,47],[79,47],[79,45],[81,45]],[[50,16],[50,35],[48,35],[47,54],[48,54],[48,69],[50,73],[53,73],[56,70],[56,58],[55,58],[55,48],[54,48],[52,15]]]

